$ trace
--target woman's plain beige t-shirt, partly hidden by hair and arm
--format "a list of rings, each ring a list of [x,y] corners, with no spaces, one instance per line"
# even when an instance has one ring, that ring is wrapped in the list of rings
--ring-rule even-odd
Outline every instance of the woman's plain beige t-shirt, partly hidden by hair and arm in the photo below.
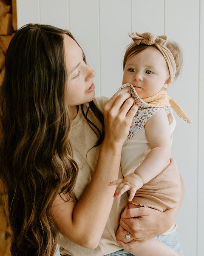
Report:
[[[102,110],[107,101],[108,98],[106,97],[98,97],[94,100],[100,110]],[[91,111],[88,117],[94,124],[98,127],[100,126],[96,117],[91,114]],[[97,137],[82,116],[80,108],[76,118],[73,120],[73,126],[71,132],[71,145],[73,148],[74,160],[79,166],[79,174],[77,183],[74,187],[74,195],[79,199],[91,181],[92,174],[96,167],[100,146],[92,148],[97,141]],[[121,170],[119,171],[119,178],[122,178]],[[99,246],[96,247],[96,249],[92,250],[81,247],[60,234],[58,241],[58,244],[60,245],[60,253],[62,255],[71,256],[103,256],[121,250],[122,248],[117,244],[115,234],[119,226],[120,214],[126,205],[127,193],[123,194],[118,199],[114,199],[105,230],[99,242]]]

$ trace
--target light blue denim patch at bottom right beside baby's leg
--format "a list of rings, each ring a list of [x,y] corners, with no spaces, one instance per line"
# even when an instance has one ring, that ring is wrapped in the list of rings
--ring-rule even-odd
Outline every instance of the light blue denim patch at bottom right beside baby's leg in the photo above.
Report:
[[[168,245],[173,250],[176,250],[178,253],[184,254],[181,244],[178,241],[178,235],[176,230],[170,235],[160,235],[160,236],[156,236],[155,238],[161,241],[162,243]]]

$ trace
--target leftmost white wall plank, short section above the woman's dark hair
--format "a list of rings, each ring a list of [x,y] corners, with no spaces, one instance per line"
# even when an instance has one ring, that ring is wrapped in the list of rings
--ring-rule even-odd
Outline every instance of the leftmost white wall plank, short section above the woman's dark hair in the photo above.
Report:
[[[40,0],[17,0],[17,26],[20,28],[27,23],[40,23]]]

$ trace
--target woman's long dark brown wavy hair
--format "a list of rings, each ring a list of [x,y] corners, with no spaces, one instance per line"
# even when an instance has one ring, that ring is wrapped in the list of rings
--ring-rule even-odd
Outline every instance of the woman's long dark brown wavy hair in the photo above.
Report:
[[[67,30],[28,24],[16,32],[6,53],[0,87],[0,178],[8,192],[12,256],[54,255],[58,232],[50,209],[57,195],[72,191],[77,178],[65,100],[65,34],[74,39]],[[88,110],[103,126],[93,101]],[[87,112],[84,116],[100,144],[104,130],[91,123]]]

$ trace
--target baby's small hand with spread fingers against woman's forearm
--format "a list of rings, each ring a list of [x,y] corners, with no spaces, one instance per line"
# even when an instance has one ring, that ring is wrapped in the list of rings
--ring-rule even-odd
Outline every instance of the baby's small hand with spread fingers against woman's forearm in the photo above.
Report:
[[[109,182],[108,185],[109,186],[119,185],[116,188],[115,194],[113,195],[114,198],[118,198],[127,190],[130,190],[128,201],[131,202],[134,198],[136,191],[143,186],[143,181],[142,181],[142,178],[139,177],[139,175],[136,175],[135,173],[131,173],[123,179]]]

